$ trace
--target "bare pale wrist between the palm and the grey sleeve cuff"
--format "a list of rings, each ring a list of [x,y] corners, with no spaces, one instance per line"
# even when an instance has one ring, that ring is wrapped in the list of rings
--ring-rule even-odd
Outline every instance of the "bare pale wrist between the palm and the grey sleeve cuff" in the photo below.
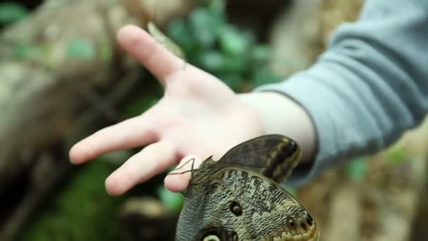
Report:
[[[282,134],[295,140],[302,161],[313,161],[316,152],[315,126],[302,106],[277,92],[252,92],[239,97],[258,113],[265,134]]]

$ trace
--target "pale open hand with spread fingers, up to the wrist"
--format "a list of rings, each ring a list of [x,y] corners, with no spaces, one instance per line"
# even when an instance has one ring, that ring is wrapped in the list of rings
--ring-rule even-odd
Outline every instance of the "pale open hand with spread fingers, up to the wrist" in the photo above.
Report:
[[[261,135],[260,121],[220,80],[172,56],[136,27],[118,35],[122,47],[156,75],[165,95],[151,109],[87,137],[70,159],[82,163],[107,152],[147,145],[106,180],[111,194],[122,194],[179,161],[218,159],[234,144]],[[144,45],[144,46],[143,46]],[[183,190],[189,175],[168,175],[165,185]]]

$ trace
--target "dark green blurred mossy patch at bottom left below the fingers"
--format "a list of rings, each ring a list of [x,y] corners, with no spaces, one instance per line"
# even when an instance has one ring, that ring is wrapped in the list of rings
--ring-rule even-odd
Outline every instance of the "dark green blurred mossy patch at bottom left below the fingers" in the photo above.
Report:
[[[125,197],[110,197],[104,180],[117,166],[92,161],[52,197],[20,240],[123,240],[117,208]]]

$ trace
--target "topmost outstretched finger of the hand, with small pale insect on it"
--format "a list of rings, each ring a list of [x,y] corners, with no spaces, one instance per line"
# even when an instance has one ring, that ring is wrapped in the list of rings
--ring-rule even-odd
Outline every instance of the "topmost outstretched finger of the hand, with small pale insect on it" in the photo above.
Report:
[[[135,25],[122,27],[118,32],[118,42],[128,54],[146,66],[162,85],[165,85],[165,78],[183,67],[181,58]]]

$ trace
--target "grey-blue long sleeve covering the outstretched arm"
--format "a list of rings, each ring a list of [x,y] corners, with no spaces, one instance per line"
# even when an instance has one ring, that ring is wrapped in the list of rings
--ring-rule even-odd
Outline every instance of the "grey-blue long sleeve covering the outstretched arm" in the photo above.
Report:
[[[428,111],[428,1],[368,0],[356,23],[341,25],[308,70],[256,91],[282,92],[310,114],[317,156],[293,183],[379,151]]]

